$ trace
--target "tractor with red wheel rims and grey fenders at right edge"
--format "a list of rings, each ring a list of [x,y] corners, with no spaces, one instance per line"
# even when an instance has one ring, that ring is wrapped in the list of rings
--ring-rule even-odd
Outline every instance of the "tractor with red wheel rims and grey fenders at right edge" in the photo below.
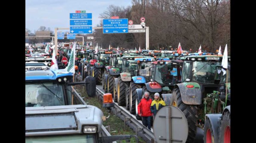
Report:
[[[224,76],[221,66],[217,67],[217,71],[215,80],[224,82],[224,86],[220,87],[220,91],[208,93],[204,98],[204,143],[230,143],[230,80],[226,80],[230,74],[230,66]]]

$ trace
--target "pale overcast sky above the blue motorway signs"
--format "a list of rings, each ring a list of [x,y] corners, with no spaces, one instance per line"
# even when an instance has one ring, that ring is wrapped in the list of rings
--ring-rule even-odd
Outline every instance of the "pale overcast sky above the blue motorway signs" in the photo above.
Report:
[[[70,28],[69,14],[76,10],[92,13],[92,27],[102,20],[99,14],[107,11],[110,5],[131,6],[131,0],[26,0],[26,27],[32,33],[40,26],[54,28]],[[118,16],[118,15],[113,15]],[[69,30],[61,30],[69,31]]]

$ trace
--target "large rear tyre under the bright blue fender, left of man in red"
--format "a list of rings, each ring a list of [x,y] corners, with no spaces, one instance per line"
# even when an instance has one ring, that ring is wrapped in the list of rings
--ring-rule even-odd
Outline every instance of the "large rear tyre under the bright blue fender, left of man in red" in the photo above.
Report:
[[[129,93],[129,99],[130,99],[129,108],[130,108],[130,113],[131,114],[135,114],[136,113],[136,109],[137,109],[137,106],[136,106],[137,91],[136,91],[136,89],[138,89],[138,88],[140,88],[140,85],[137,85],[134,82],[130,83],[130,87],[129,87],[129,89],[130,89],[130,93]]]

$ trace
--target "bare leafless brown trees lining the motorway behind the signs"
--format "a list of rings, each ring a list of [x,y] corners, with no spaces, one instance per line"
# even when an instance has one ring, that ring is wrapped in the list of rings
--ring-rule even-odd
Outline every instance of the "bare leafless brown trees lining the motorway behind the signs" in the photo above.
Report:
[[[131,0],[132,6],[110,5],[99,18],[112,16],[128,18],[140,24],[144,17],[149,27],[149,49],[171,50],[181,43],[183,50],[202,50],[215,53],[228,45],[230,53],[230,0]],[[102,20],[97,26],[102,26]],[[41,26],[40,31],[51,30]],[[28,30],[28,29],[27,29]],[[54,33],[51,33],[54,35]],[[78,35],[77,35],[78,36]],[[81,35],[79,35],[81,36]],[[95,29],[93,43],[103,48],[146,49],[146,33],[103,34]]]

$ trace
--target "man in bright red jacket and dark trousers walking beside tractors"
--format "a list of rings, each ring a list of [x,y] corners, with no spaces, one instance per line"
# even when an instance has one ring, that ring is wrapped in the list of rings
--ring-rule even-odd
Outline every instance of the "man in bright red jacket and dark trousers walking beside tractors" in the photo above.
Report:
[[[150,110],[151,103],[152,99],[149,98],[149,92],[146,91],[138,105],[138,114],[142,117],[143,125],[145,125],[149,130],[151,130],[151,117],[153,116]]]

